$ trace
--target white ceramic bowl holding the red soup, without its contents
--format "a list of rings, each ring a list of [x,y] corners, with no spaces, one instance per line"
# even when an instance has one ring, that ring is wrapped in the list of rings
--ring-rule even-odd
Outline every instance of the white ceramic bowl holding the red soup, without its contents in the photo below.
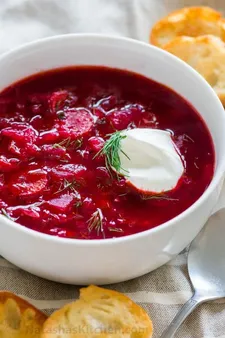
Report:
[[[173,88],[202,115],[216,151],[214,178],[185,212],[152,230],[106,240],[62,239],[0,216],[0,255],[35,275],[69,284],[109,284],[146,274],[182,251],[210,216],[225,172],[225,113],[206,81],[172,55],[142,42],[99,35],[39,40],[0,57],[0,90],[39,71],[104,65],[145,75]]]

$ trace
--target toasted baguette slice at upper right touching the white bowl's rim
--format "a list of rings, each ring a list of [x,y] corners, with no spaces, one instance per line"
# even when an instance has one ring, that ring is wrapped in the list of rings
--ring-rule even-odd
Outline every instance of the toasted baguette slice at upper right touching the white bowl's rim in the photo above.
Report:
[[[225,44],[215,36],[178,37],[164,49],[199,72],[225,106]]]

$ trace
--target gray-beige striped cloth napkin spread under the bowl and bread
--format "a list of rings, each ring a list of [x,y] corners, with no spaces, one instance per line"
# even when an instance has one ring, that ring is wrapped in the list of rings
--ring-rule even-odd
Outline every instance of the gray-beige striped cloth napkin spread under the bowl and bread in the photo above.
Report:
[[[200,4],[225,12],[224,0],[0,0],[0,53],[33,39],[72,32],[107,33],[147,42],[151,26],[161,16]],[[225,189],[223,195],[220,207],[225,205]],[[107,286],[127,294],[148,311],[155,338],[192,295],[186,255],[185,251],[143,277]],[[4,258],[0,258],[0,289],[22,295],[48,314],[79,294],[79,287],[35,277]],[[225,338],[225,301],[201,305],[176,337]]]

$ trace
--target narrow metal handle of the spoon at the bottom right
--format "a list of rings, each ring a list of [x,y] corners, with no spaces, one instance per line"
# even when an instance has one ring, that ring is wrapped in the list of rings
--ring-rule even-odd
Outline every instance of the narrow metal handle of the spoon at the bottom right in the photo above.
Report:
[[[172,338],[187,316],[201,303],[195,295],[184,304],[161,338]]]

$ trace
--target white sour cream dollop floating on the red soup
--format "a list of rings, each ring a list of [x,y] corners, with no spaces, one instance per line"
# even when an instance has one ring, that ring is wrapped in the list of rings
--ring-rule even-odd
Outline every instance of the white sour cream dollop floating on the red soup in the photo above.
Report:
[[[153,193],[176,187],[184,165],[168,131],[135,128],[121,135],[126,137],[120,143],[120,173],[127,176],[129,183],[138,190]]]

